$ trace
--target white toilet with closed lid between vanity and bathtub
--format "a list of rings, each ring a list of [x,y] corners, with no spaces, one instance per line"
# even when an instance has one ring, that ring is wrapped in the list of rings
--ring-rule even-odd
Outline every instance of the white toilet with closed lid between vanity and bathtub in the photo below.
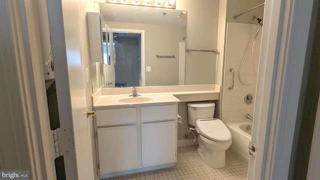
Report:
[[[214,102],[189,102],[188,122],[198,134],[198,153],[213,168],[225,166],[225,150],[231,145],[231,133],[214,115]]]

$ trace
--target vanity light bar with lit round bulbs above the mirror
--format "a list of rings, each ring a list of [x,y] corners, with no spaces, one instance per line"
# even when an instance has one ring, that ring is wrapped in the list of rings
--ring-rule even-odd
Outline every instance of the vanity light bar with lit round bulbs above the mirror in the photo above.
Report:
[[[175,0],[105,0],[105,2],[175,9]]]

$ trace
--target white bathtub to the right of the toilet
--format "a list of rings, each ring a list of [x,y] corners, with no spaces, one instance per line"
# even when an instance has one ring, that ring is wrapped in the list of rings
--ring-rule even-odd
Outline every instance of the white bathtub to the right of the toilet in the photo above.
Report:
[[[248,163],[248,145],[251,140],[252,122],[227,123],[225,125],[232,135],[232,143],[228,150],[243,162]],[[246,127],[250,128],[246,129]]]

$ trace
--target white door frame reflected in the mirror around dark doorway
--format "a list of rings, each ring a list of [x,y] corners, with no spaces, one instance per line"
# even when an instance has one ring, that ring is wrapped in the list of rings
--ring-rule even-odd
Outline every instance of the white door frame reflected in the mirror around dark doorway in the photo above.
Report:
[[[144,50],[144,30],[141,29],[124,29],[124,28],[111,28],[113,32],[124,33],[139,33],[141,34],[141,76],[142,86],[145,86],[145,50]]]

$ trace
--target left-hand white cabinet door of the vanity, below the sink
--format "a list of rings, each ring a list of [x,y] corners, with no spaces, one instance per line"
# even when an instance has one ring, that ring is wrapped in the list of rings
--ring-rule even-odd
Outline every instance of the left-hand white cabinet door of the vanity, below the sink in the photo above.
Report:
[[[97,128],[100,173],[138,167],[137,126]]]

